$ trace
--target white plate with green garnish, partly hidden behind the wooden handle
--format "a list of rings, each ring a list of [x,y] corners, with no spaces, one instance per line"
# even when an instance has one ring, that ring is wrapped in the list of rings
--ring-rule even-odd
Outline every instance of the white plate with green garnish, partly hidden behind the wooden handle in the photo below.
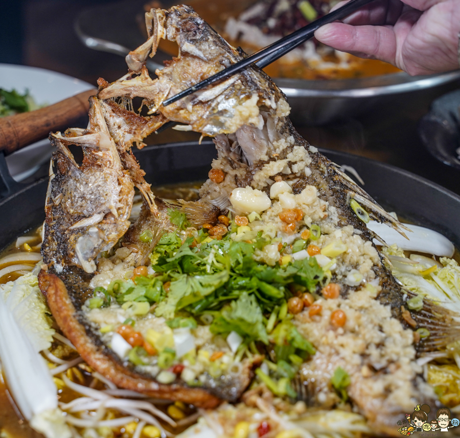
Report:
[[[0,88],[19,93],[29,89],[38,105],[52,105],[94,86],[71,76],[43,68],[25,65],[0,64]],[[11,176],[22,181],[31,176],[53,152],[47,138],[6,157]]]

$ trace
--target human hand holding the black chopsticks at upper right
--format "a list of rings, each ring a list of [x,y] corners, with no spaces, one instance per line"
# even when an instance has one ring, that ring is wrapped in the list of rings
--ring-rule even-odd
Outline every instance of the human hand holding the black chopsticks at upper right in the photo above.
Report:
[[[346,2],[340,2],[334,9]],[[315,32],[318,41],[409,75],[458,68],[458,0],[377,0]]]

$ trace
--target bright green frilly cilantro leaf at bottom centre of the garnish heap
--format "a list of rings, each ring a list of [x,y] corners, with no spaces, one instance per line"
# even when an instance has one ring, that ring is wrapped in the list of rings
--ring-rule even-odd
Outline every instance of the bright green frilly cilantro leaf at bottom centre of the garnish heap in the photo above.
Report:
[[[212,322],[210,330],[215,334],[235,331],[246,339],[261,340],[268,344],[262,310],[256,297],[246,292],[222,309],[221,314]]]

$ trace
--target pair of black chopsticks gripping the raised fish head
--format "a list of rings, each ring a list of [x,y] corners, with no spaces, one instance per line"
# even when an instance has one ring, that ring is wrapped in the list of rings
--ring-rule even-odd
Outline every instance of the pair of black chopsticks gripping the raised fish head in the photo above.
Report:
[[[177,93],[176,95],[172,96],[169,99],[166,99],[163,102],[163,106],[168,106],[174,102],[177,102],[179,99],[185,98],[189,94],[194,93],[195,91],[201,90],[204,87],[207,87],[210,84],[213,84],[216,81],[221,79],[228,78],[229,76],[234,75],[241,69],[247,67],[248,65],[255,63],[258,67],[264,68],[268,64],[276,61],[277,59],[281,58],[286,53],[293,50],[295,47],[301,45],[308,39],[312,38],[314,32],[319,29],[321,26],[326,25],[327,23],[332,23],[335,20],[341,20],[346,16],[350,15],[352,12],[356,11],[357,9],[361,8],[368,3],[373,2],[374,0],[351,0],[351,2],[343,5],[342,7],[336,9],[333,12],[329,12],[329,14],[324,15],[317,20],[312,21],[309,25],[304,26],[301,29],[292,32],[290,35],[287,35],[277,42],[270,44],[269,46],[261,49],[259,52],[256,52],[241,61],[233,64],[232,66],[225,68],[213,76],[205,79],[204,81],[198,82],[196,85],[193,85],[186,90]]]

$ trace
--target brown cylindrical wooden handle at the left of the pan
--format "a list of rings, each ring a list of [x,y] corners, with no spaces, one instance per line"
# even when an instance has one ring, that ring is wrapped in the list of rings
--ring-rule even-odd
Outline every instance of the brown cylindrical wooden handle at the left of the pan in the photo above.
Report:
[[[0,151],[11,154],[48,137],[50,131],[71,127],[74,121],[88,114],[88,99],[96,93],[96,89],[83,91],[48,107],[0,118]]]

